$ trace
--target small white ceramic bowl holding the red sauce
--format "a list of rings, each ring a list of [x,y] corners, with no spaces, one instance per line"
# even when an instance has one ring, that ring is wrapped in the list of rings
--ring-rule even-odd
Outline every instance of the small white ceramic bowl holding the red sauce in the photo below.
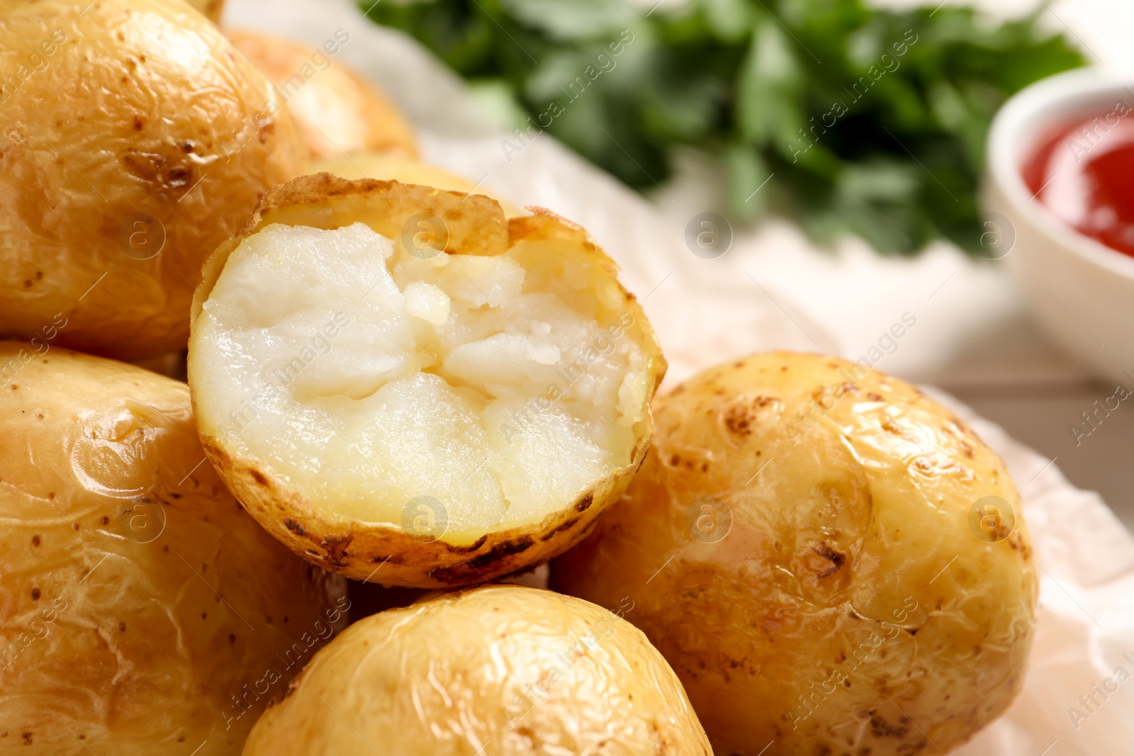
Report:
[[[1053,128],[1110,112],[1119,100],[1134,107],[1132,85],[1134,75],[1084,68],[1017,93],[992,121],[983,190],[990,239],[1002,238],[988,256],[1005,256],[1032,313],[1058,345],[1100,376],[1127,384],[1126,371],[1134,373],[1134,257],[1055,218],[1032,198],[1021,169]]]

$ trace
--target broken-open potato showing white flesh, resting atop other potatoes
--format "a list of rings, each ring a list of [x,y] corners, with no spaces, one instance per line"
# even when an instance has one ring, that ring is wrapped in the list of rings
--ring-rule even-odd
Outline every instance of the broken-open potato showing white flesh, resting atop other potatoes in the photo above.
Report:
[[[661,350],[606,253],[534,210],[319,173],[270,190],[209,260],[188,362],[202,444],[296,553],[467,585],[561,553],[621,495]]]

